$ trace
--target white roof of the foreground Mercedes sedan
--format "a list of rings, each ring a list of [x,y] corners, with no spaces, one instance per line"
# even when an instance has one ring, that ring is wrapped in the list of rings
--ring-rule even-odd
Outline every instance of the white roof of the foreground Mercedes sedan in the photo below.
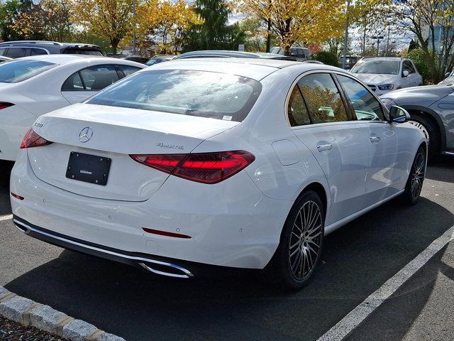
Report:
[[[300,63],[289,60],[260,59],[260,58],[193,58],[190,60],[170,60],[166,63],[153,65],[152,68],[140,72],[151,70],[197,70],[209,72],[221,72],[241,77],[262,80],[267,75],[272,74],[285,67],[299,67],[298,70],[341,70],[338,67],[320,65],[314,63]]]

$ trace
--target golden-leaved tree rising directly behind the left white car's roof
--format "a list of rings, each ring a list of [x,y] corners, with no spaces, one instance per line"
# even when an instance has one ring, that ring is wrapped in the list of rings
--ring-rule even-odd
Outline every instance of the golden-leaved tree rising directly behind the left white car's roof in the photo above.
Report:
[[[74,22],[93,36],[109,40],[114,55],[121,39],[133,30],[131,0],[72,0],[72,11]]]

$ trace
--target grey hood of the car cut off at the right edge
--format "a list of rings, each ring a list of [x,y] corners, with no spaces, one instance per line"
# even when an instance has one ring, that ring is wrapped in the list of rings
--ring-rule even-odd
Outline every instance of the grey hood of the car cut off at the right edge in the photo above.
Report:
[[[420,105],[429,107],[439,99],[454,92],[454,87],[449,85],[426,85],[424,87],[406,87],[387,94],[382,97],[392,98],[397,105]]]

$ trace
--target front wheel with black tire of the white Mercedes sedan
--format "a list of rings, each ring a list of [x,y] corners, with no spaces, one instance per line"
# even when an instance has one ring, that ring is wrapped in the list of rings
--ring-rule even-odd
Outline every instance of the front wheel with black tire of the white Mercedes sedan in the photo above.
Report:
[[[416,151],[408,180],[406,180],[405,191],[402,197],[406,204],[414,205],[419,201],[426,173],[426,148],[419,147]]]

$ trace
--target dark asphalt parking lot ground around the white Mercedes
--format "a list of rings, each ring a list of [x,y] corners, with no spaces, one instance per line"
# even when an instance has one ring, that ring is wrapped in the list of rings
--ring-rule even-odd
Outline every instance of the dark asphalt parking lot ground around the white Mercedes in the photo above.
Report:
[[[6,178],[0,217],[11,214]],[[255,272],[175,280],[67,251],[0,220],[0,285],[126,340],[317,340],[454,225],[454,158],[426,175],[421,201],[399,200],[326,237],[313,281],[280,293]],[[454,242],[347,340],[454,340]]]

